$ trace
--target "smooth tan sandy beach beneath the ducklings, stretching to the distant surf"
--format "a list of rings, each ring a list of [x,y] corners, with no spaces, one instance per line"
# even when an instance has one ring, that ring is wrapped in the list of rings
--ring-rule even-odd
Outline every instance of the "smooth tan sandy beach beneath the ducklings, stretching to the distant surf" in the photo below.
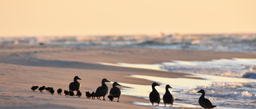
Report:
[[[170,60],[214,60],[255,58],[256,53],[231,53],[170,49],[138,49],[126,47],[74,47],[47,45],[0,45],[0,108],[151,108],[134,105],[149,103],[139,97],[121,95],[120,102],[86,99],[86,91],[94,91],[106,78],[111,82],[150,85],[153,81],[130,78],[130,75],[169,78],[188,77],[181,72],[163,72],[141,68],[122,68],[100,63],[157,64]],[[49,92],[32,91],[33,85],[68,90],[74,76],[82,80],[82,97],[50,95]],[[107,84],[112,88],[112,84]],[[122,88],[122,87],[120,87]],[[182,107],[181,107],[182,108]]]

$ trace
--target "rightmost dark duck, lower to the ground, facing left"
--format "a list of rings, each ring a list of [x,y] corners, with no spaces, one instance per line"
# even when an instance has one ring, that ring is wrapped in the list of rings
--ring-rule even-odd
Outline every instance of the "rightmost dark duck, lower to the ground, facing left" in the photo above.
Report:
[[[198,91],[198,93],[202,93],[202,95],[198,99],[198,102],[199,102],[201,107],[204,107],[204,108],[214,108],[214,107],[216,107],[212,103],[210,103],[209,99],[205,98],[205,91],[204,90],[201,89],[200,91]]]

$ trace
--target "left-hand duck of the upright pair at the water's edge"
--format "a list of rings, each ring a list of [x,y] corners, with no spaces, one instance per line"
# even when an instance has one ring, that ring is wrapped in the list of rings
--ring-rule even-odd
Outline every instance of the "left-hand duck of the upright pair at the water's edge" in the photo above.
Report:
[[[155,86],[160,86],[160,85],[155,82],[152,84],[152,91],[150,92],[150,102],[152,103],[152,105],[154,105],[154,103],[158,103],[158,106],[159,106],[160,95],[158,91],[154,88]]]

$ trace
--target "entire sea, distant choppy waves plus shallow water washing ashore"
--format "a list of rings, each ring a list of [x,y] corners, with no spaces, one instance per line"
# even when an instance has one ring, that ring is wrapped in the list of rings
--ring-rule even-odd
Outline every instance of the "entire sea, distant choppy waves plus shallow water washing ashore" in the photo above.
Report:
[[[123,36],[70,36],[70,37],[0,37],[0,44],[5,45],[61,45],[64,47],[132,47],[147,49],[186,49],[218,52],[256,53],[256,33],[225,34],[160,34],[160,35],[123,35]],[[134,102],[154,108],[198,107],[197,91],[206,91],[206,98],[216,108],[256,108],[256,57],[218,59],[207,61],[170,60],[156,64],[101,63],[129,68],[146,68],[166,72],[185,72],[190,77],[201,78],[163,78],[157,76],[130,75],[155,81],[161,98],[166,84],[170,84],[170,92],[174,95],[174,105],[164,107],[152,106],[148,103]],[[170,74],[171,75],[171,74]],[[150,85],[119,83],[122,95],[132,95],[149,99],[152,90]],[[122,101],[122,98],[121,98]]]

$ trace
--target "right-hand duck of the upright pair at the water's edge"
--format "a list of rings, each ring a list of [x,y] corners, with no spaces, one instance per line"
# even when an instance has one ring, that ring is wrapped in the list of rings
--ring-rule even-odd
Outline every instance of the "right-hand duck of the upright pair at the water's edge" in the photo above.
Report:
[[[165,107],[166,107],[166,103],[170,103],[171,105],[174,104],[174,96],[170,94],[170,91],[168,90],[168,88],[171,88],[171,87],[169,84],[166,84],[166,93],[162,96],[163,103],[165,103]]]

